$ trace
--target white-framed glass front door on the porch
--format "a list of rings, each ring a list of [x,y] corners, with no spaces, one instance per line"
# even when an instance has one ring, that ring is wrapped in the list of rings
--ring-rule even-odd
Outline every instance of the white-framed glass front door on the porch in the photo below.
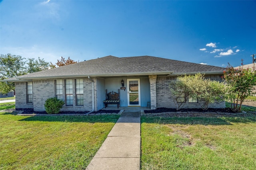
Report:
[[[127,79],[128,106],[140,106],[140,79]]]

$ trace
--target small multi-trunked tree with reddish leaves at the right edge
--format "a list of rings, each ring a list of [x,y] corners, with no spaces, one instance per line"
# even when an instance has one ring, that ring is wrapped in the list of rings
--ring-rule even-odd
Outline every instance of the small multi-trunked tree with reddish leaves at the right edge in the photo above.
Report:
[[[242,103],[252,95],[252,90],[256,85],[255,68],[243,68],[240,66],[235,69],[228,63],[228,67],[224,72],[224,80],[228,84],[227,98],[232,102],[233,111],[241,112]],[[239,107],[238,107],[239,105]]]

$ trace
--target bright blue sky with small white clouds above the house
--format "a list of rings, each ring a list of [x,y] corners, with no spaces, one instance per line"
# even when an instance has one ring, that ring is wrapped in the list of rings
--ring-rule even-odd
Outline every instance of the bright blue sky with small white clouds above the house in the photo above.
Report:
[[[252,63],[256,1],[0,0],[0,54]]]

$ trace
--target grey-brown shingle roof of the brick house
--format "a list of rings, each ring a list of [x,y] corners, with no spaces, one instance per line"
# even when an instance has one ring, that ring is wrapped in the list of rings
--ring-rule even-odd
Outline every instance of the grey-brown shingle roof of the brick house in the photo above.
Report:
[[[118,76],[140,74],[218,73],[225,68],[151,56],[106,56],[16,77],[19,80],[55,77]],[[16,79],[15,78],[15,79]],[[11,78],[9,80],[14,80]]]

